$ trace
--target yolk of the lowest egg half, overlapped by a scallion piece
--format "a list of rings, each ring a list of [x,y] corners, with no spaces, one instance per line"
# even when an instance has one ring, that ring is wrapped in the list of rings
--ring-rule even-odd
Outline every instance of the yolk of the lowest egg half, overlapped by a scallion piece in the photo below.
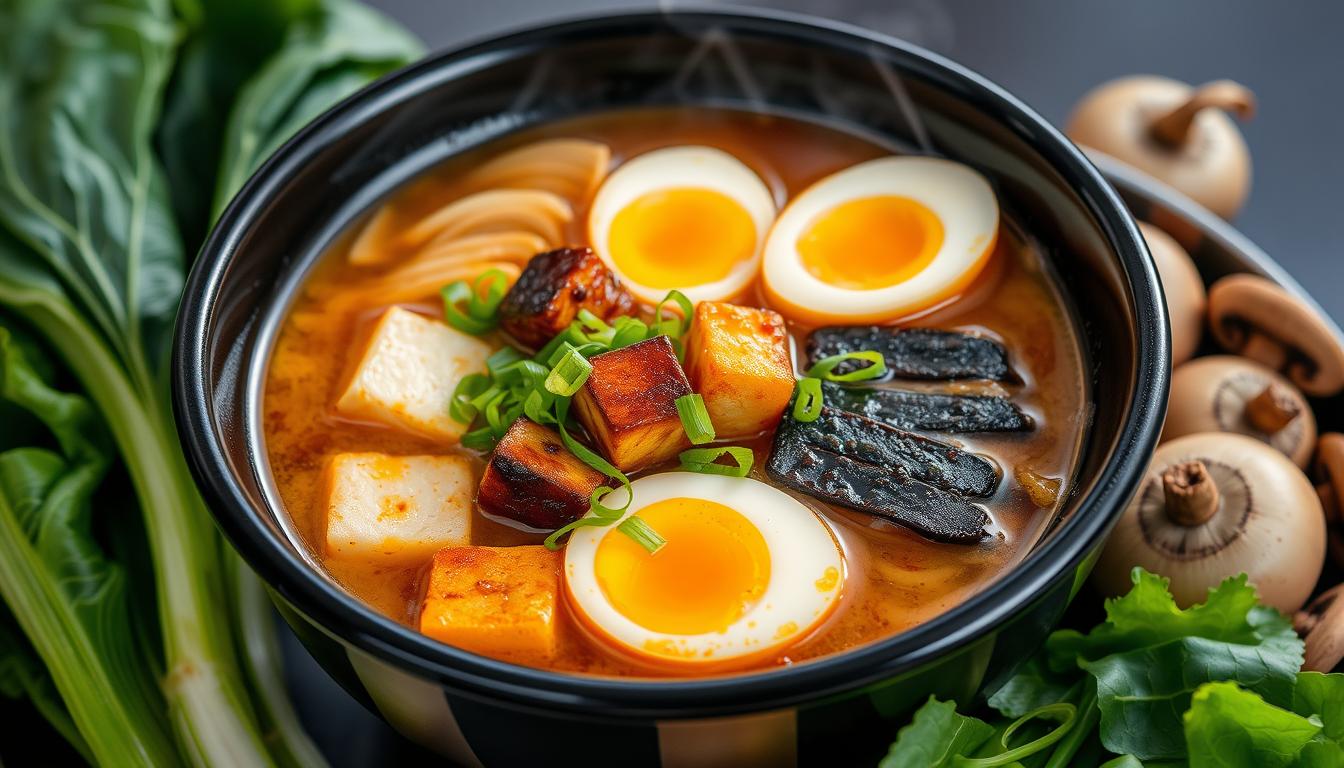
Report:
[[[770,550],[741,512],[683,498],[652,503],[638,514],[667,545],[649,554],[613,530],[593,564],[607,601],[630,621],[668,635],[719,632],[765,593]]]

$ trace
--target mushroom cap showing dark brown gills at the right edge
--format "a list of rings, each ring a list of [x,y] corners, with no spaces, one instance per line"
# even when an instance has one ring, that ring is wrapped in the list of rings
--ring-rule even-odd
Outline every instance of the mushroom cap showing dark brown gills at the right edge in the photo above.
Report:
[[[1257,274],[1228,274],[1208,289],[1208,324],[1230,352],[1288,374],[1306,394],[1329,397],[1344,389],[1344,344],[1329,321],[1278,284]],[[1270,359],[1249,348],[1253,336],[1273,342]],[[1263,339],[1261,339],[1263,340]]]

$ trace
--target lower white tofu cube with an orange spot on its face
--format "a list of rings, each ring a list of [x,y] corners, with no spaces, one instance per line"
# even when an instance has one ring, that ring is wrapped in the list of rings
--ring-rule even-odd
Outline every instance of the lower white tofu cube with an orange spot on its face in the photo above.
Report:
[[[328,557],[418,562],[470,543],[474,483],[465,456],[339,453],[327,482]]]

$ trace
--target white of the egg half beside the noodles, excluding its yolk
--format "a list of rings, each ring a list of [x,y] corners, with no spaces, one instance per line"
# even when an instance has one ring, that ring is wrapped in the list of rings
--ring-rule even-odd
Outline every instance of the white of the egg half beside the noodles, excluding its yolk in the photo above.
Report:
[[[613,171],[589,207],[589,242],[626,288],[646,303],[661,301],[667,288],[653,288],[621,272],[610,256],[612,222],[622,208],[659,190],[712,190],[735,200],[755,225],[751,258],[739,262],[722,280],[677,285],[692,301],[719,301],[741,293],[761,268],[761,247],[774,222],[774,198],[759,176],[741,160],[712,147],[668,147],[626,160]],[[687,254],[695,258],[695,254]]]

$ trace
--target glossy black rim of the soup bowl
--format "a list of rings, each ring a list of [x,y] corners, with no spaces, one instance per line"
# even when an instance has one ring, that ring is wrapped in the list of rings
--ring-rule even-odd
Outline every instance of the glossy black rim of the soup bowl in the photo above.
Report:
[[[802,664],[710,678],[624,679],[523,667],[431,640],[316,573],[288,541],[271,534],[261,518],[265,512],[247,502],[214,426],[214,387],[208,383],[214,307],[228,266],[251,222],[293,174],[370,117],[511,52],[527,55],[560,40],[622,31],[675,32],[685,26],[730,27],[801,46],[880,54],[921,77],[956,83],[961,98],[989,112],[1039,152],[1089,208],[1118,261],[1137,312],[1137,356],[1130,382],[1134,397],[1114,448],[1075,512],[984,590],[915,628]],[[1074,577],[1128,504],[1165,416],[1171,364],[1159,285],[1133,217],[1087,157],[1016,97],[961,65],[848,24],[777,11],[677,8],[583,16],[430,55],[345,98],[271,155],[230,202],[187,278],[173,334],[173,409],[192,475],[220,529],[270,589],[339,640],[462,693],[523,707],[563,707],[570,716],[648,720],[761,712],[853,691],[962,650],[1027,609],[1060,578]]]

